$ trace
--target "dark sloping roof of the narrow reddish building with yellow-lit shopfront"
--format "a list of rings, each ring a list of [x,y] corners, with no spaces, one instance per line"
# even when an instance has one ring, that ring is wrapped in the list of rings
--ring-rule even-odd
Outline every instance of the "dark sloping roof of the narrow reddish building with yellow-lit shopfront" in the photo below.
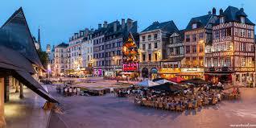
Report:
[[[213,14],[207,14],[196,18],[192,18],[189,21],[188,26],[186,27],[186,31],[192,30],[193,23],[197,23],[197,28],[205,27],[207,23],[209,23],[209,20],[211,19],[212,16]]]

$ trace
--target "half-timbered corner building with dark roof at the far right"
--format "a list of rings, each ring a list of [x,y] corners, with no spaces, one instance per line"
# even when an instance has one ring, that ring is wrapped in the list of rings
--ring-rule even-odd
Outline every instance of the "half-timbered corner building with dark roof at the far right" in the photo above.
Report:
[[[205,80],[255,86],[254,23],[244,9],[220,10],[206,47]]]

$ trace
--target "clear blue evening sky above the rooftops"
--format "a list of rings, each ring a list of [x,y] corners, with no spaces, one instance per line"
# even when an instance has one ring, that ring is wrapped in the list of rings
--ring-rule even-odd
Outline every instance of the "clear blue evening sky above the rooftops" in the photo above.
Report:
[[[32,35],[41,32],[43,49],[46,44],[68,43],[72,34],[85,27],[97,28],[104,21],[134,19],[138,31],[154,21],[173,20],[184,29],[192,17],[208,14],[213,7],[225,10],[227,6],[243,5],[249,19],[256,23],[254,0],[5,0],[0,2],[0,24],[23,6]]]

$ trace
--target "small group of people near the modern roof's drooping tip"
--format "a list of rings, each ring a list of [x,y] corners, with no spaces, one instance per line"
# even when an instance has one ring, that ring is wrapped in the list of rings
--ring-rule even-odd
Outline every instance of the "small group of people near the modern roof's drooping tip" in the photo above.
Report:
[[[80,91],[81,91],[80,88],[72,87],[71,85],[64,85],[64,86],[58,85],[56,87],[56,90],[58,93],[63,93],[64,96],[69,96],[69,97],[80,95]]]

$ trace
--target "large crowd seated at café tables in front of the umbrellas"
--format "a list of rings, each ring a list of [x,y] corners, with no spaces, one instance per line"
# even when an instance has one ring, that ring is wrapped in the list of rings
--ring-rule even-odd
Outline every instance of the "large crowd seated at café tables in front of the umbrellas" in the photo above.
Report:
[[[239,89],[233,89],[232,93],[240,94]],[[216,105],[225,97],[222,89],[211,89],[208,85],[197,88],[189,87],[176,93],[143,89],[138,91],[134,103],[156,109],[168,109],[183,111],[184,109],[196,109],[203,105]]]

